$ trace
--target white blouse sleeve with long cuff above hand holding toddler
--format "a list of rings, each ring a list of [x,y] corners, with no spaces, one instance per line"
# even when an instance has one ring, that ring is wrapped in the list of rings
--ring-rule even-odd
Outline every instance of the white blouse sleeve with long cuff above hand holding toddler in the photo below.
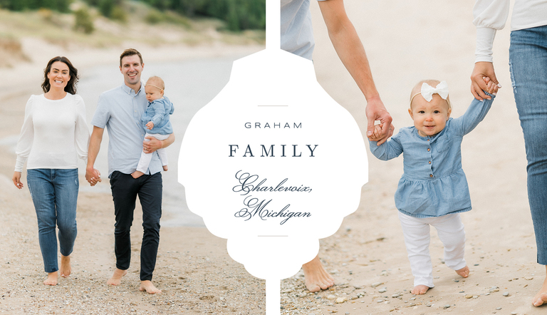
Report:
[[[476,0],[473,24],[476,26],[475,62],[492,62],[496,30],[503,29],[509,16],[509,0]]]

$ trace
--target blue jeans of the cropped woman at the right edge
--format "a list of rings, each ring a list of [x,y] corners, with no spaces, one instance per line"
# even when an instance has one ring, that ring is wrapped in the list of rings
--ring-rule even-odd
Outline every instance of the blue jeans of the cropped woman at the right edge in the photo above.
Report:
[[[547,25],[511,32],[509,66],[526,146],[538,263],[547,265]]]

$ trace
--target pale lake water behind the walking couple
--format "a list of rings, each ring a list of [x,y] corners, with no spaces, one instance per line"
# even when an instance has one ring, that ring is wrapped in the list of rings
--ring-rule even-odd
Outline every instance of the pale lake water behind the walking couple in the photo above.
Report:
[[[177,181],[177,162],[184,132],[195,113],[209,103],[228,83],[232,62],[243,56],[208,58],[182,62],[145,63],[142,81],[150,76],[160,76],[165,81],[165,95],[174,104],[171,123],[175,142],[167,148],[169,171],[163,172],[163,212],[168,212],[169,220],[162,220],[162,226],[204,227],[201,217],[189,211],[184,187]],[[87,120],[90,122],[97,107],[100,93],[123,83],[118,67],[98,66],[82,73],[78,83],[78,93],[85,101]],[[93,127],[90,127],[93,128]],[[214,126],[212,126],[214,128]],[[108,173],[108,133],[103,134],[103,142],[95,168],[105,177]],[[80,171],[82,169],[80,168]],[[85,167],[84,167],[85,170]],[[110,186],[99,183],[95,187],[80,185],[81,191],[108,192]]]

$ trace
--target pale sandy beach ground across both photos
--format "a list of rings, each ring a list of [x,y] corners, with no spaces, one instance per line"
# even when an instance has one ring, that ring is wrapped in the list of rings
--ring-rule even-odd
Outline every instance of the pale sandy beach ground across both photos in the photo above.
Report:
[[[357,1],[345,7],[368,53],[378,91],[395,128],[411,125],[407,113],[412,86],[424,78],[445,80],[452,116],[471,103],[469,76],[474,63],[474,1]],[[328,38],[312,1],[319,83],[348,109],[365,135],[365,98]],[[509,21],[508,21],[509,24]],[[130,44],[130,43],[126,43]],[[187,62],[194,58],[239,58],[258,45],[212,43],[152,48],[137,43],[145,63]],[[167,224],[160,232],[154,282],[162,294],[138,291],[142,229],[137,205],[132,228],[132,266],[120,286],[106,280],[115,267],[113,202],[108,181],[89,189],[80,165],[78,238],[73,274],[58,286],[45,278],[36,214],[28,189],[11,182],[15,143],[28,96],[41,93],[43,66],[51,56],[67,55],[80,73],[97,66],[117,67],[124,46],[78,49],[26,38],[31,61],[0,68],[0,313],[3,314],[265,314],[264,281],[246,272],[226,252],[226,240],[204,227]],[[402,175],[402,158],[382,162],[368,155],[369,182],[358,209],[338,232],[321,239],[325,268],[335,286],[309,293],[302,272],[281,282],[281,314],[541,314],[531,306],[545,268],[536,264],[536,243],[526,193],[526,156],[509,77],[509,29],[499,31],[494,67],[503,88],[485,120],[464,139],[463,167],[473,210],[462,214],[466,259],[471,274],[463,279],[444,265],[442,243],[432,230],[430,251],[434,289],[413,296],[412,274],[393,195]],[[8,79],[9,78],[9,79]],[[119,77],[119,83],[122,77]],[[100,91],[99,91],[100,93]],[[86,100],[95,107],[93,99]],[[88,121],[91,116],[88,115]],[[183,133],[184,130],[181,130]],[[397,132],[397,130],[396,130]],[[364,137],[363,137],[364,138]],[[182,137],[170,154],[175,159]],[[368,145],[368,143],[367,143]],[[105,147],[103,149],[105,151]],[[105,162],[105,161],[103,161]],[[106,170],[104,170],[106,172]],[[171,172],[171,170],[170,170]],[[25,176],[24,182],[26,183]],[[167,189],[166,189],[167,190]],[[165,191],[166,191],[165,190]],[[164,193],[165,193],[164,191]],[[177,194],[183,192],[182,186]],[[177,217],[165,211],[162,223]],[[180,222],[180,221],[177,221]]]

